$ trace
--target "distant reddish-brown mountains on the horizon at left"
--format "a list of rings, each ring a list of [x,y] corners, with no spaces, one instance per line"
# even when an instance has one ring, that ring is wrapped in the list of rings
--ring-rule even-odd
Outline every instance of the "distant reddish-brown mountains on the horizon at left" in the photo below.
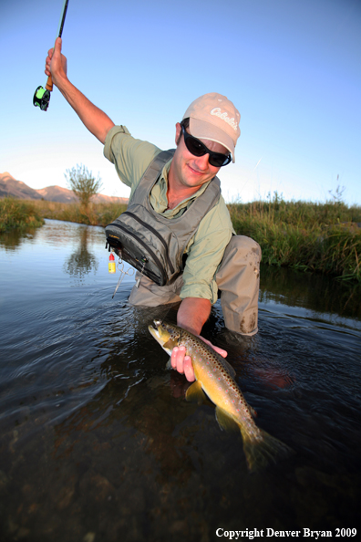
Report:
[[[76,202],[77,198],[71,190],[61,188],[61,186],[46,186],[39,190],[34,190],[27,186],[25,182],[16,181],[10,173],[0,173],[0,198],[13,196],[20,200],[41,200],[47,202],[72,203]],[[106,196],[98,193],[91,199],[94,203],[125,203],[129,202],[128,198],[117,198],[115,196]]]

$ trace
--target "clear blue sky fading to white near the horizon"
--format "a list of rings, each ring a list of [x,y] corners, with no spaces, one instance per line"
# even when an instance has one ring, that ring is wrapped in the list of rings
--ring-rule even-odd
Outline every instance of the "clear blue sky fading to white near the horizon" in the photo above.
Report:
[[[55,87],[45,59],[63,0],[0,0],[0,172],[67,187],[84,164],[102,193],[129,196],[103,146]],[[226,202],[273,196],[361,204],[361,0],[69,0],[67,75],[115,124],[160,149],[193,99],[219,92],[241,112]]]

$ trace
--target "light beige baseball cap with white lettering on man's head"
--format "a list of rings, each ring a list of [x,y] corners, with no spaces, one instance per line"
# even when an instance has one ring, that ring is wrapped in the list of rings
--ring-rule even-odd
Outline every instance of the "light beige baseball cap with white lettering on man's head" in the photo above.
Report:
[[[188,118],[192,136],[220,143],[232,153],[232,162],[235,162],[234,147],[241,135],[241,115],[231,100],[217,92],[203,94],[192,101],[184,113],[183,119]]]

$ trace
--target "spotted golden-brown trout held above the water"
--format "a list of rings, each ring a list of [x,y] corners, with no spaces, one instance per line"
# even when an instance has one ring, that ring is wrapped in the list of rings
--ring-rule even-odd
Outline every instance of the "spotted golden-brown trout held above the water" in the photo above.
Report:
[[[169,354],[174,347],[185,347],[186,355],[191,357],[196,378],[186,392],[186,399],[200,402],[207,396],[216,405],[216,419],[221,428],[240,429],[244,454],[251,472],[270,462],[275,463],[277,457],[291,452],[284,443],[257,427],[253,420],[254,411],[235,382],[235,371],[228,361],[201,339],[174,324],[154,320],[154,328],[149,326],[149,330]]]

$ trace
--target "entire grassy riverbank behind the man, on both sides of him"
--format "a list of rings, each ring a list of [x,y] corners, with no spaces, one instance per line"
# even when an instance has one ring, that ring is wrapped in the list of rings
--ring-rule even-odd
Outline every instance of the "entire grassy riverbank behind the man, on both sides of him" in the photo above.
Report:
[[[0,200],[1,224],[41,224],[52,218],[106,226],[126,210],[119,203]],[[284,202],[277,193],[269,201],[231,203],[228,208],[238,235],[253,237],[262,247],[264,264],[290,266],[361,283],[361,207],[342,202]],[[21,212],[20,212],[21,209]],[[36,221],[39,221],[37,223]],[[3,227],[0,225],[0,227]],[[4,231],[4,229],[2,230]]]

